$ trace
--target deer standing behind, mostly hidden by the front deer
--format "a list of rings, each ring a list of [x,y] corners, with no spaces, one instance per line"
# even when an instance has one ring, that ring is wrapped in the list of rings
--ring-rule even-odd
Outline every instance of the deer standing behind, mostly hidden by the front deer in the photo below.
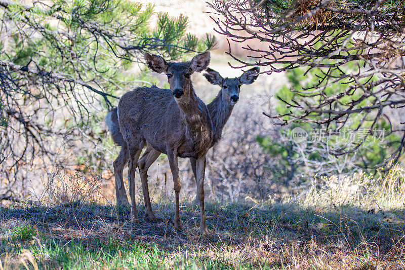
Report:
[[[260,69],[259,67],[254,67],[245,71],[242,75],[236,78],[223,78],[219,72],[215,71],[212,68],[207,68],[207,73],[203,74],[205,78],[213,85],[221,86],[220,91],[218,92],[217,96],[214,100],[207,105],[208,110],[210,112],[210,117],[213,122],[214,128],[214,138],[211,143],[211,147],[217,144],[221,137],[222,137],[222,130],[228,121],[234,105],[239,100],[239,93],[241,85],[250,85],[252,84],[258,77]],[[118,126],[117,117],[116,117],[116,108],[113,108],[107,114],[107,118],[109,119],[110,125],[109,130],[112,134],[112,137],[116,144],[121,145],[123,141],[122,136],[119,132],[119,129],[116,127]],[[106,118],[106,119],[107,119]],[[123,148],[121,148],[122,151]],[[144,155],[138,161],[138,169],[141,176],[142,183],[147,185],[147,170],[153,164],[153,162],[159,157],[160,152],[153,149],[150,145],[147,146]],[[127,163],[128,158],[126,153],[120,152],[120,156],[122,158],[116,160],[114,162],[114,172],[115,176],[115,191],[116,191],[116,198],[117,203],[119,204],[128,204],[127,194],[125,191],[125,187],[122,184],[122,173],[125,164]],[[190,158],[191,169],[194,175],[194,179],[197,179],[197,171],[196,171],[196,160],[194,158]],[[120,182],[121,181],[121,182]],[[194,200],[195,204],[198,202],[198,194]],[[150,215],[149,220],[154,220],[154,215]]]

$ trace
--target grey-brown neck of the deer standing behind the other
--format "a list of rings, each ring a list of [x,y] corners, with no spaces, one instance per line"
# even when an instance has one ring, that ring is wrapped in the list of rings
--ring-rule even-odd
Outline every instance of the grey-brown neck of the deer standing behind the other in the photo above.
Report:
[[[232,113],[233,106],[234,104],[225,100],[222,95],[222,90],[219,91],[214,100],[207,105],[214,128],[212,146],[221,139],[222,130]]]

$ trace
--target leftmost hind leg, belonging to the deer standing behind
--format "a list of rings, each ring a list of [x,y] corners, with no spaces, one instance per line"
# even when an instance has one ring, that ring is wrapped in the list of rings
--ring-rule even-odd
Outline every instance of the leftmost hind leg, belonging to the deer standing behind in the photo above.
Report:
[[[114,161],[114,176],[115,176],[115,195],[117,205],[129,205],[127,192],[123,181],[123,170],[128,162],[128,150],[125,146],[121,147],[119,155]]]

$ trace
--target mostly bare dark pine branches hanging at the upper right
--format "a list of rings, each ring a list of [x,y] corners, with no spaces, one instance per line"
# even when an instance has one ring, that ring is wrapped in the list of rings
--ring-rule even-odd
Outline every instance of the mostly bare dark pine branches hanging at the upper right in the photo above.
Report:
[[[358,140],[331,146],[335,156],[355,153],[373,129],[389,126],[396,136],[386,143],[396,149],[381,165],[398,161],[405,133],[393,114],[401,114],[405,103],[403,1],[218,0],[210,6],[220,14],[217,32],[242,44],[255,60],[233,55],[229,45],[237,67],[259,65],[267,73],[303,67],[313,78],[293,88],[295,94],[278,97],[286,109],[266,113],[276,124],[311,122],[328,132],[356,132]],[[251,46],[252,40],[266,46]]]

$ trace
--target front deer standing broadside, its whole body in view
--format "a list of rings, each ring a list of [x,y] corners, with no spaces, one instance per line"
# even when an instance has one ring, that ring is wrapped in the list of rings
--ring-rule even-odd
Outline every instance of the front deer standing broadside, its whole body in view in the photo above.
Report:
[[[167,62],[164,58],[144,54],[147,66],[157,73],[166,73],[170,89],[157,87],[139,87],[124,94],[116,109],[115,115],[107,115],[110,130],[121,134],[121,150],[114,161],[115,167],[125,166],[122,161],[128,160],[128,178],[131,198],[131,222],[138,222],[138,211],[135,200],[135,170],[142,149],[148,145],[159,153],[165,153],[169,160],[175,191],[175,216],[173,219],[176,232],[182,231],[180,221],[180,190],[178,157],[196,160],[197,194],[200,207],[200,231],[207,235],[208,229],[204,207],[204,177],[206,154],[212,143],[214,133],[211,117],[206,104],[195,94],[191,82],[193,72],[205,70],[211,60],[210,52],[200,53],[186,62]],[[149,151],[150,152],[150,151]],[[148,155],[150,161],[152,155]],[[154,156],[153,156],[154,158]],[[156,160],[157,157],[154,159]],[[153,160],[153,161],[154,161]],[[152,162],[153,163],[153,162]],[[120,169],[120,168],[118,168]],[[140,169],[142,172],[142,169]],[[117,190],[123,188],[122,171],[115,171]],[[142,178],[141,178],[142,180]],[[145,203],[145,216],[150,221],[156,220],[152,211],[147,182],[142,182]]]

